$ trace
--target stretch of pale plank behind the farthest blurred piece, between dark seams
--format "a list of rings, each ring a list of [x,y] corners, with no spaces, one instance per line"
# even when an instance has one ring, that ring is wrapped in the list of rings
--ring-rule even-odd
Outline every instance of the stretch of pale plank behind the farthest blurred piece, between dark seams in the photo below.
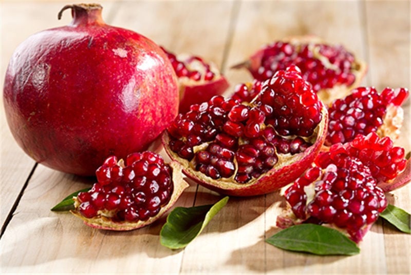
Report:
[[[341,12],[343,11],[343,13]],[[365,59],[359,8],[356,3],[309,1],[252,1],[241,3],[227,66],[234,86],[251,81],[245,70],[229,69],[273,41],[296,35],[316,35],[342,44]]]

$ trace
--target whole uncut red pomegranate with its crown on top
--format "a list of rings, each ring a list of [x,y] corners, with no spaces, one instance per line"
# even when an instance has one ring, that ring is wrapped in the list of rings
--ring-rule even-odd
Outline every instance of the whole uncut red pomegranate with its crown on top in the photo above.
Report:
[[[109,155],[147,149],[178,112],[177,77],[150,39],[108,26],[98,4],[65,6],[73,20],[30,36],[4,84],[17,143],[50,168],[92,175]]]

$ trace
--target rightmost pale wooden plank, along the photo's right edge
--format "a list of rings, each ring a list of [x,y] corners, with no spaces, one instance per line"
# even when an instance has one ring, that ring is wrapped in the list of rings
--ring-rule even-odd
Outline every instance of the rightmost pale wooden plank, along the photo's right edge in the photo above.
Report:
[[[379,91],[385,87],[410,86],[410,2],[364,2],[367,19],[367,41],[369,49],[369,85]],[[410,99],[403,105],[404,127],[396,145],[411,149],[410,137]],[[411,212],[411,186],[408,184],[388,195],[391,204]],[[409,274],[409,235],[399,233],[393,226],[384,222],[384,248],[387,273]]]

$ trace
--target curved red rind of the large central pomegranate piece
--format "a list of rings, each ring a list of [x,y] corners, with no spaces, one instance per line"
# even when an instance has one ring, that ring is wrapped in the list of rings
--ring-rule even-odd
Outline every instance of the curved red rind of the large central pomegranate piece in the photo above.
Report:
[[[221,178],[214,180],[209,176],[195,171],[188,160],[181,158],[177,153],[173,152],[168,144],[170,136],[167,131],[164,131],[162,136],[163,146],[167,154],[174,161],[177,161],[183,168],[182,172],[194,182],[216,191],[220,194],[231,195],[235,197],[250,197],[274,192],[279,188],[293,182],[307,168],[311,166],[319,154],[326,136],[326,126],[328,125],[327,108],[322,105],[322,120],[314,129],[312,135],[313,144],[304,152],[299,154],[278,154],[278,162],[267,173],[262,174],[257,179],[253,179],[248,183],[235,183],[232,179]]]

